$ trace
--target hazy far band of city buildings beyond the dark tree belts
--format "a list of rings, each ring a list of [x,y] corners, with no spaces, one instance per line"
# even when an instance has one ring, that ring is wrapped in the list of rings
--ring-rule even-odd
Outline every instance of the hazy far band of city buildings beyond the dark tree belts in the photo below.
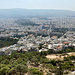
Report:
[[[25,35],[27,32],[45,34],[55,30],[55,28],[68,28],[75,30],[75,18],[74,17],[46,17],[46,19],[40,19],[39,17],[24,18],[38,25],[21,25],[19,18],[0,18],[0,37],[12,37],[16,35]],[[17,22],[16,22],[17,21]],[[22,22],[22,20],[21,20]]]

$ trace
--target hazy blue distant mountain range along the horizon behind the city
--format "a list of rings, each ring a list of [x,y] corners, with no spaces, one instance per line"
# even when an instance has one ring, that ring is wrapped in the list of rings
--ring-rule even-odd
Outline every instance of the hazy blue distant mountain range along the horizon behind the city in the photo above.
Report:
[[[0,18],[24,18],[34,16],[74,16],[75,11],[50,9],[0,9]]]

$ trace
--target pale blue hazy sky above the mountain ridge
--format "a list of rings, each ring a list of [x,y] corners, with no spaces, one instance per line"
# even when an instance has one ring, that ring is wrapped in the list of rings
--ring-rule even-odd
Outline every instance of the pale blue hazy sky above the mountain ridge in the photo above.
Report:
[[[0,0],[0,9],[64,9],[75,11],[75,0]]]

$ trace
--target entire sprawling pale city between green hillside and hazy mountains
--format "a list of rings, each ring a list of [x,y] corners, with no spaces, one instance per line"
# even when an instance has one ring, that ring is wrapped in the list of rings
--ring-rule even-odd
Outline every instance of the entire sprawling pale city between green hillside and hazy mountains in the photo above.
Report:
[[[34,50],[41,52],[50,49],[59,51],[65,47],[75,47],[74,31],[66,31],[65,34],[53,32],[53,27],[75,28],[74,18],[47,17],[45,20],[35,17],[28,19],[38,25],[24,26],[16,23],[15,21],[17,21],[17,19],[0,19],[0,37],[12,37],[19,39],[17,44],[1,48],[0,55],[9,55],[12,51],[27,52]],[[58,35],[61,36],[58,37]]]

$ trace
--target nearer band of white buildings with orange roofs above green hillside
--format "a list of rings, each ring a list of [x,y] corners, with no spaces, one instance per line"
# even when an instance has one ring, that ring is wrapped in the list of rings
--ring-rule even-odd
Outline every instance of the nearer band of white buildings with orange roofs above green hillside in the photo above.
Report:
[[[30,51],[59,51],[69,46],[75,47],[75,32],[66,32],[63,36],[35,36],[33,34],[21,37],[17,44],[0,49],[0,54],[11,54],[13,51],[17,52],[30,52]]]

